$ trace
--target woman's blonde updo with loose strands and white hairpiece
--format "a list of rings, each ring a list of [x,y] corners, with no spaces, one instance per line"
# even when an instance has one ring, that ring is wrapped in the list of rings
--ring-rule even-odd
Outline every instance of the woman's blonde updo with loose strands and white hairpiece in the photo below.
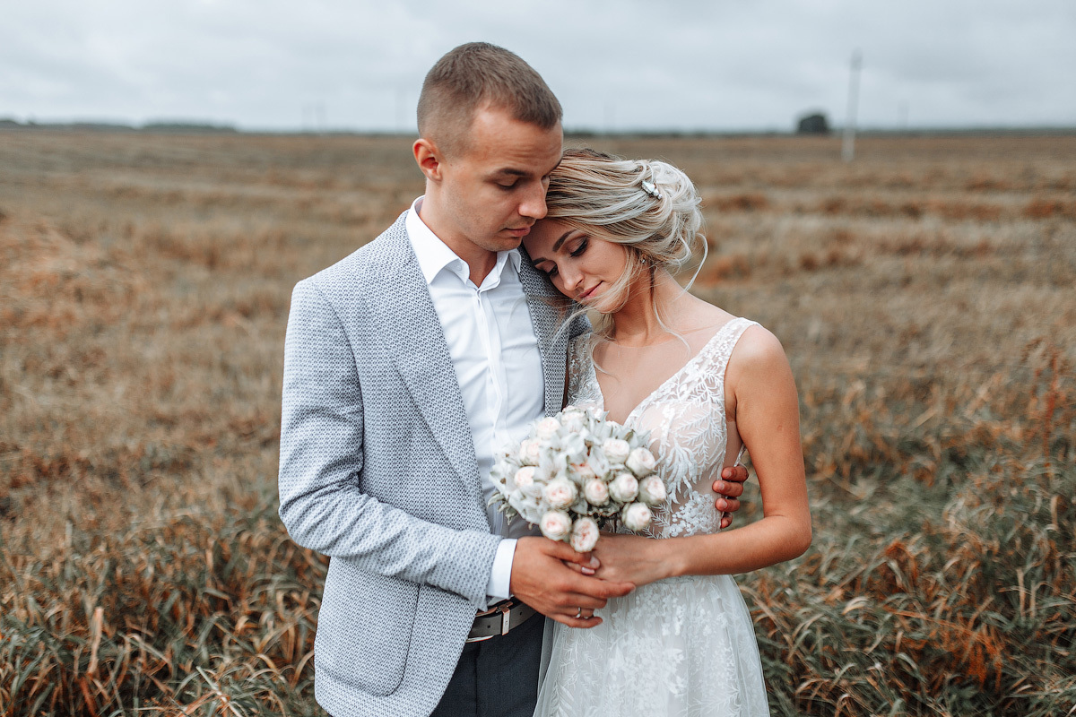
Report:
[[[611,334],[611,314],[627,302],[629,287],[646,286],[649,279],[653,301],[656,271],[676,275],[700,253],[684,288],[691,287],[707,254],[700,201],[688,175],[667,162],[621,159],[594,149],[565,150],[550,175],[547,218],[596,233],[627,250],[627,270],[608,289],[615,303],[603,309],[594,326],[599,335]],[[664,327],[656,302],[654,312]]]

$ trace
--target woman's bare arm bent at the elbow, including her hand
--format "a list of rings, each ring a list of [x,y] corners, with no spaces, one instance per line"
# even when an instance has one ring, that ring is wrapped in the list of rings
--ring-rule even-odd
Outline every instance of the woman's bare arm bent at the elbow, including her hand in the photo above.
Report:
[[[780,342],[744,332],[728,361],[725,397],[762,491],[763,518],[708,535],[651,540],[603,535],[598,577],[646,585],[675,575],[746,573],[803,555],[811,541],[795,379]]]

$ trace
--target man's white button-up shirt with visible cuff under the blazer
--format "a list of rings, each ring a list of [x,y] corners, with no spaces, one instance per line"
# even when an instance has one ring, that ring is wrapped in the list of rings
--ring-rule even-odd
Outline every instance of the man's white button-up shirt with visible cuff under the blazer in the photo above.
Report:
[[[493,271],[481,286],[470,281],[467,262],[437,238],[419,216],[414,200],[405,219],[434,309],[441,320],[449,354],[459,381],[482,481],[482,497],[493,496],[490,479],[496,451],[526,438],[527,427],[544,414],[544,381],[538,339],[520,283],[519,249],[498,252]],[[512,522],[495,507],[486,508],[497,546],[486,594],[509,596],[515,539],[534,531]]]

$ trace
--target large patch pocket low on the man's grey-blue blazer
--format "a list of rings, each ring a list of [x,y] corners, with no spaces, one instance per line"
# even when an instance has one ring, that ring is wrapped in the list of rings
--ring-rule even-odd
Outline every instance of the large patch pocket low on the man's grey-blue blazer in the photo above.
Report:
[[[404,680],[419,586],[332,558],[317,615],[314,663],[352,687],[384,697]]]

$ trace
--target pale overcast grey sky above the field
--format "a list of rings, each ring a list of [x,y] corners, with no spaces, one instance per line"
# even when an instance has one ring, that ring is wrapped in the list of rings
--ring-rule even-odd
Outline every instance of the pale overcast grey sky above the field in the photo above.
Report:
[[[0,117],[414,127],[453,46],[521,55],[567,128],[1076,126],[1076,0],[2,0]]]

